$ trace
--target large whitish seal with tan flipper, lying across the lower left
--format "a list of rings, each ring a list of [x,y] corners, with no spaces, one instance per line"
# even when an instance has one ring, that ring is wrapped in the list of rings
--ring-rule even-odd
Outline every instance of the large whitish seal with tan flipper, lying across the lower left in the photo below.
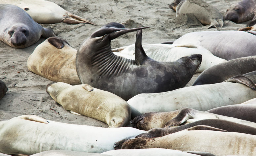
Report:
[[[23,115],[0,122],[0,152],[32,155],[49,150],[102,153],[113,144],[145,131],[132,127],[102,128]]]

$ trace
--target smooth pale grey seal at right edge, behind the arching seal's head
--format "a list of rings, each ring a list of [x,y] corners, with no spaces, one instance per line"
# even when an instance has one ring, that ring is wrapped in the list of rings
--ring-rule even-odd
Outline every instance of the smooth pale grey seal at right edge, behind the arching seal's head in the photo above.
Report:
[[[256,36],[244,31],[192,32],[173,42],[173,44],[188,43],[200,45],[213,55],[226,60],[256,55]]]

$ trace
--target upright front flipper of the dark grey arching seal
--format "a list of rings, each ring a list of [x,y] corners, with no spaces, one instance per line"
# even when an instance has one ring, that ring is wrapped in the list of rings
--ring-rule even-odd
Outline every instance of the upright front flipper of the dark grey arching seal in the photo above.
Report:
[[[140,26],[139,26],[140,27]],[[135,63],[137,65],[142,65],[145,60],[149,60],[147,54],[145,53],[143,47],[142,47],[142,30],[138,30],[136,34],[136,42],[135,42]]]

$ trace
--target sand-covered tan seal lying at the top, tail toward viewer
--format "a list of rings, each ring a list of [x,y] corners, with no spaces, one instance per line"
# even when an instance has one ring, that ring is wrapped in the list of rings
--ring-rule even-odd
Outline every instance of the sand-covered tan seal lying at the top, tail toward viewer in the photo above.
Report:
[[[192,14],[203,25],[209,25],[208,28],[224,24],[218,9],[203,0],[174,0],[169,7],[176,11],[176,17]]]

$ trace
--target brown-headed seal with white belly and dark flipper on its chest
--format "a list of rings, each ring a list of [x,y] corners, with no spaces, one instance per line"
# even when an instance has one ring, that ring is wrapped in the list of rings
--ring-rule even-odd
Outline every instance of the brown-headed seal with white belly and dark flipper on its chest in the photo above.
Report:
[[[168,128],[180,124],[189,124],[203,119],[222,119],[256,128],[256,123],[254,122],[245,121],[234,117],[217,115],[209,112],[198,111],[186,107],[182,107],[179,110],[170,112],[145,113],[141,116],[135,117],[131,121],[131,124],[134,128],[150,130],[151,128]]]

